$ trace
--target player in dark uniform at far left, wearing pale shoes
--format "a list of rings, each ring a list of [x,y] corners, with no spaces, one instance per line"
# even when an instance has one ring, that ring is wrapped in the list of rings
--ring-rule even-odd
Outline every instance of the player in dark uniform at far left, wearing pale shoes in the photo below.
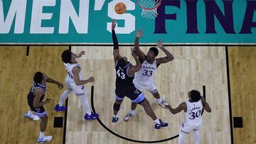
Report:
[[[51,135],[44,135],[46,131],[48,116],[43,105],[50,102],[50,99],[46,99],[46,101],[43,101],[43,98],[46,94],[46,82],[56,84],[59,89],[63,89],[63,84],[53,79],[50,79],[46,76],[46,74],[42,72],[36,72],[33,77],[33,81],[34,82],[31,87],[31,91],[28,94],[28,106],[30,107],[31,111],[33,111],[33,113],[41,118],[40,134],[37,141],[38,143],[49,142],[53,137]],[[30,118],[28,116],[26,117]]]

